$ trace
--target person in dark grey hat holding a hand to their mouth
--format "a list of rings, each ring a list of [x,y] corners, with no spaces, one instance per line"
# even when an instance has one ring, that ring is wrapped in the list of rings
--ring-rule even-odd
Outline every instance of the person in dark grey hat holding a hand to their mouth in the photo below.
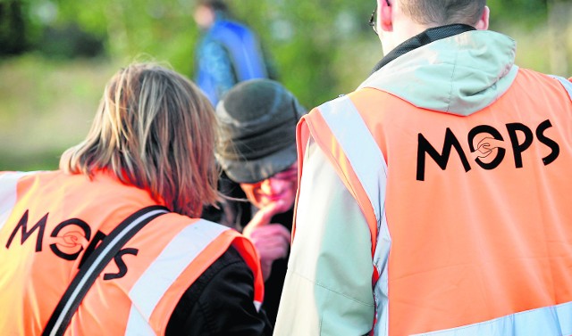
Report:
[[[286,274],[298,187],[296,125],[306,112],[290,91],[271,79],[241,82],[216,106],[216,160],[224,175],[240,185],[228,194],[240,197],[238,191],[248,199],[231,202],[234,211],[226,220],[250,238],[260,254],[263,307],[271,323]]]

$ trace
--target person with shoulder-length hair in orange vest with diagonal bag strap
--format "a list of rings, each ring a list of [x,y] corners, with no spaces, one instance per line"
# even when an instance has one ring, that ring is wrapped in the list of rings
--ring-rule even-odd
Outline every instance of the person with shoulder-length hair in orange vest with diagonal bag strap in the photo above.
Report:
[[[199,219],[220,198],[215,142],[214,109],[197,86],[135,63],[105,86],[60,170],[0,173],[0,334],[270,334],[255,247]],[[128,239],[123,227],[139,232]],[[94,273],[111,246],[122,249]],[[73,301],[66,289],[82,275],[94,282]],[[69,327],[54,319],[65,311]]]

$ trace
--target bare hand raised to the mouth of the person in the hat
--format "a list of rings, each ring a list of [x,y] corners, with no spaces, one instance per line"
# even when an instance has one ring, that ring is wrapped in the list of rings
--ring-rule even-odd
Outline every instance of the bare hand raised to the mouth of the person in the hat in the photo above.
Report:
[[[274,202],[259,209],[242,230],[242,234],[250,239],[258,251],[265,280],[270,276],[274,260],[286,258],[290,248],[290,231],[283,225],[270,223],[280,207],[280,202]]]

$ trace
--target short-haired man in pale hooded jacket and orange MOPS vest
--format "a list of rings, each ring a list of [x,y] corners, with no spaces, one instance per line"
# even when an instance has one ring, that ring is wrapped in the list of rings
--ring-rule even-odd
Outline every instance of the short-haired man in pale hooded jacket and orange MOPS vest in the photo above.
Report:
[[[484,0],[371,23],[374,73],[299,123],[274,335],[572,334],[571,83],[518,68]]]

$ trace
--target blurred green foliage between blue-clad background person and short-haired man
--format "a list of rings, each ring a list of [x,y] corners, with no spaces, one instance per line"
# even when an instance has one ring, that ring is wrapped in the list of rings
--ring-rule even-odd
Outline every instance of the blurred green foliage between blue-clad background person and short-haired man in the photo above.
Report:
[[[338,60],[332,57],[347,40],[368,37],[378,44],[367,26],[374,1],[257,1],[234,2],[235,16],[257,31],[270,50],[279,79],[307,107],[346,93],[336,76],[341,68],[353,68],[365,79],[382,54],[370,63]],[[240,4],[240,5],[239,5]],[[341,17],[341,13],[349,13]],[[339,19],[343,19],[340,22]],[[344,25],[345,23],[345,25]],[[343,31],[349,27],[348,32]],[[357,86],[357,84],[356,84]],[[353,88],[353,86],[349,86]]]

